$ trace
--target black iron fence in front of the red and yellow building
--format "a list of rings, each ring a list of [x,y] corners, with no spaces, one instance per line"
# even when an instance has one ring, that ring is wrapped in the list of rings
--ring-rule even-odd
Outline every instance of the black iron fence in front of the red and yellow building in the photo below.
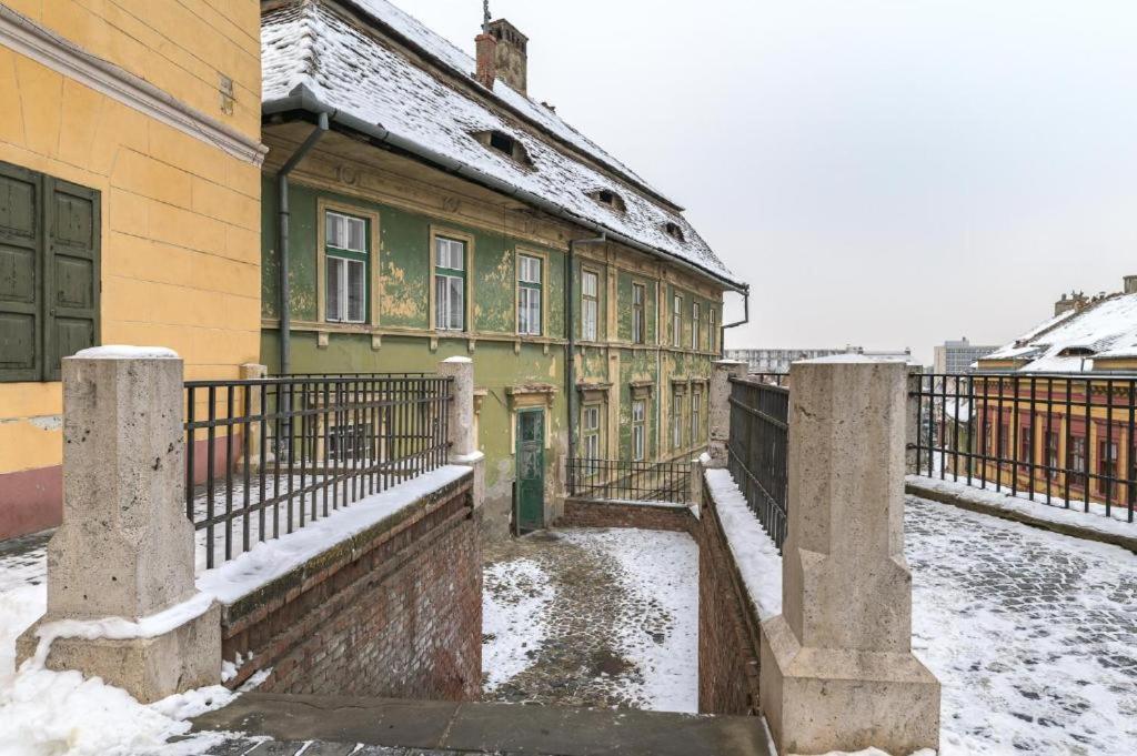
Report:
[[[1134,521],[1137,377],[926,374],[921,475]]]

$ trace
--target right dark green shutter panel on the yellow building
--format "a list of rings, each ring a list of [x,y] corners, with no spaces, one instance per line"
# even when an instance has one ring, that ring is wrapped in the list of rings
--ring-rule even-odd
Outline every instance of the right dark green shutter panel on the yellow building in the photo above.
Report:
[[[43,377],[58,381],[60,360],[99,343],[99,192],[47,177],[44,207]]]

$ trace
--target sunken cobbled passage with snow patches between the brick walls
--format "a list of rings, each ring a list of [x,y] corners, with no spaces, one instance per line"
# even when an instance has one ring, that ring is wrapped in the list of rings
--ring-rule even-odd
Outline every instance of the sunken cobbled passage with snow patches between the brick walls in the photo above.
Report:
[[[484,700],[695,712],[698,547],[567,529],[485,551]]]

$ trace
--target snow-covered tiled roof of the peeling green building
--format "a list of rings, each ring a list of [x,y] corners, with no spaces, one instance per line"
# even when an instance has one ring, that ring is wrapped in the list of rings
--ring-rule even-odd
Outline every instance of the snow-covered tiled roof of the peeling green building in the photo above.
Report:
[[[262,99],[266,107],[307,90],[321,105],[380,126],[400,141],[537,197],[572,218],[745,286],[682,216],[681,208],[584,138],[549,108],[498,81],[478,84],[473,58],[385,0],[296,0],[262,17]],[[371,30],[366,26],[371,26]],[[409,49],[433,59],[414,58]],[[523,165],[474,134],[504,132]],[[621,211],[590,197],[606,189]],[[667,224],[679,227],[667,232]]]

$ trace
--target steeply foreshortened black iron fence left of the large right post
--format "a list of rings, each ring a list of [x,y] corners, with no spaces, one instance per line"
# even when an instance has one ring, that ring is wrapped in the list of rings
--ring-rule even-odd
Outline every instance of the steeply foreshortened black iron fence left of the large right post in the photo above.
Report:
[[[780,551],[788,526],[789,389],[756,375],[730,383],[727,466]]]

